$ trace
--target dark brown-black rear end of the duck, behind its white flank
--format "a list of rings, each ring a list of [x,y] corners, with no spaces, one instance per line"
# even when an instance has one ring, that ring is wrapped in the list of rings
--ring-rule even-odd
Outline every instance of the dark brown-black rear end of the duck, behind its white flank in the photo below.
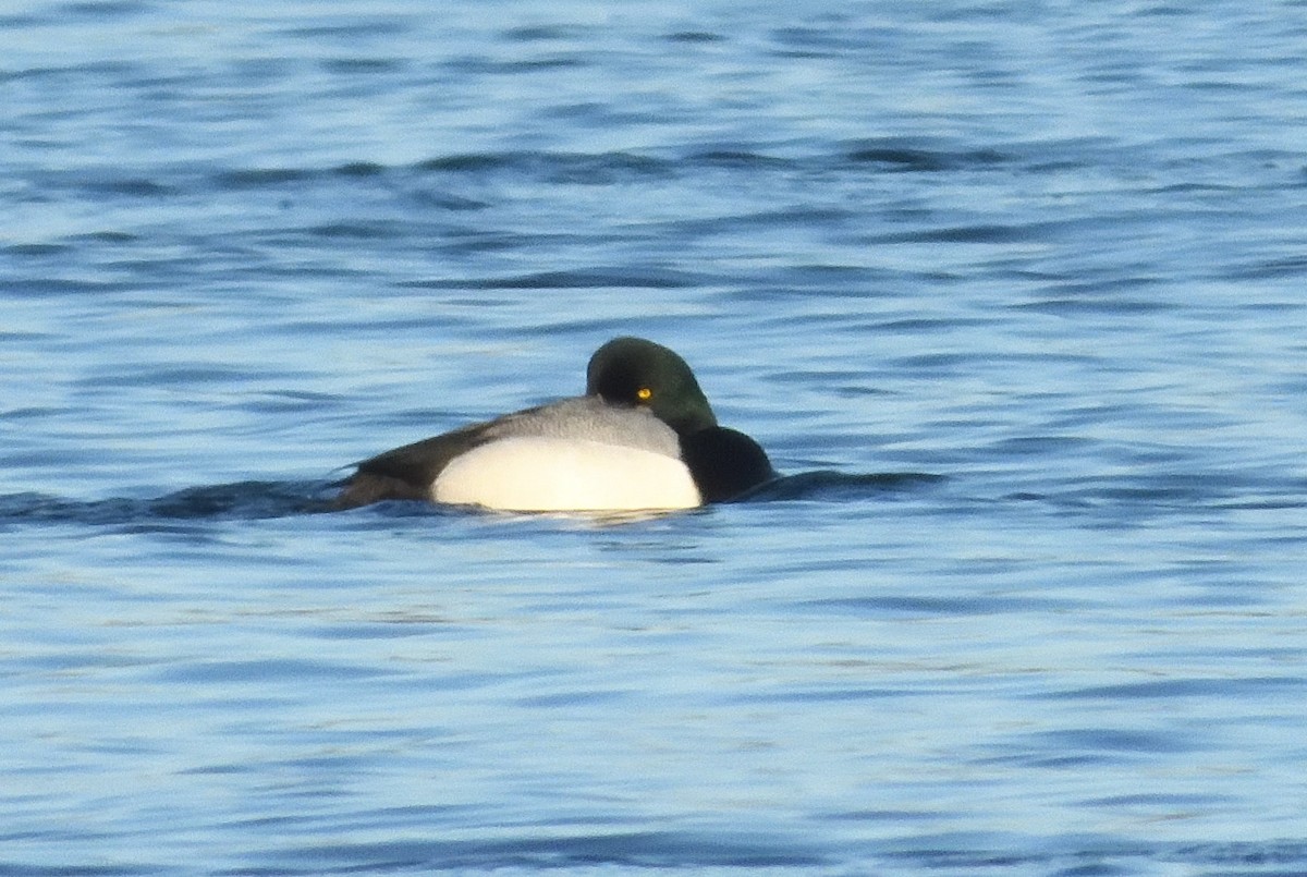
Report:
[[[435,477],[450,460],[482,444],[486,427],[473,423],[363,460],[332,505],[356,508],[383,499],[430,499]]]

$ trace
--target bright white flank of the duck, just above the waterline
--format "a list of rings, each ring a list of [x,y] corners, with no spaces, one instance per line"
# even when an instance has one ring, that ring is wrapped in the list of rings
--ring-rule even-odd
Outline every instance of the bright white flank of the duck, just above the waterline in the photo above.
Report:
[[[516,437],[452,460],[431,499],[505,511],[647,511],[702,505],[674,457],[622,444]]]

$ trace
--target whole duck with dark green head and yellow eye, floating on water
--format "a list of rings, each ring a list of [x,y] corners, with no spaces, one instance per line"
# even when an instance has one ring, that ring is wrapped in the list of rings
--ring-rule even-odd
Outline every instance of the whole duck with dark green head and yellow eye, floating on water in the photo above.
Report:
[[[586,392],[356,464],[335,508],[388,499],[512,512],[640,512],[728,502],[778,477],[720,426],[690,366],[639,337],[589,358]]]

